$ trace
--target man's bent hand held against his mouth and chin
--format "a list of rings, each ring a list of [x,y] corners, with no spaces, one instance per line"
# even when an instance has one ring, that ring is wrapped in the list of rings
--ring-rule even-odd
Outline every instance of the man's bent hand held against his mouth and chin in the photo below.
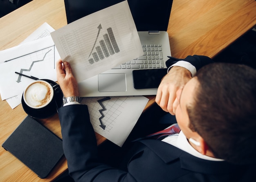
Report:
[[[168,74],[162,79],[158,89],[155,102],[162,110],[175,115],[179,102],[177,102],[176,92],[182,89],[192,78],[191,72],[186,68],[173,66]]]

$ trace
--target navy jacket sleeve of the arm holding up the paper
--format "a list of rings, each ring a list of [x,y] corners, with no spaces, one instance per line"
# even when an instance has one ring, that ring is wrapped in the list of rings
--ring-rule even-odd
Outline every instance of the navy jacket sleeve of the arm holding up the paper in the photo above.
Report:
[[[126,171],[99,162],[97,142],[87,105],[61,107],[58,115],[61,122],[64,154],[70,175],[75,181],[135,181]]]

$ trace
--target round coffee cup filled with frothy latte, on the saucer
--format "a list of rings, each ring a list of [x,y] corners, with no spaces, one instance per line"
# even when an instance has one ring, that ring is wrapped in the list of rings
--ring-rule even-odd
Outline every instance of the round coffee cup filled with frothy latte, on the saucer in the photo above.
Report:
[[[40,109],[51,103],[54,90],[50,83],[37,80],[30,83],[23,92],[24,102],[28,107]]]

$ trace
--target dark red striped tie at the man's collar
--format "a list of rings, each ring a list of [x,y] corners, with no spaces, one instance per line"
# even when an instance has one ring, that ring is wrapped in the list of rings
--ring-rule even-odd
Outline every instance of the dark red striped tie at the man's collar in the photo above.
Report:
[[[146,138],[153,138],[153,139],[157,139],[157,140],[162,140],[165,137],[171,135],[171,134],[177,134],[180,133],[180,127],[178,124],[174,124],[171,127],[164,129],[162,131],[150,134],[148,136],[146,136]]]

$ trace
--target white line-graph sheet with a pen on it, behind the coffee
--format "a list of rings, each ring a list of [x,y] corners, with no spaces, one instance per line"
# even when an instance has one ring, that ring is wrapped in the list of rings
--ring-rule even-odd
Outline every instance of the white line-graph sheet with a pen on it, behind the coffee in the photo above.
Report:
[[[2,100],[22,94],[25,87],[34,81],[15,72],[56,81],[55,62],[58,59],[58,51],[50,36],[0,51]]]

